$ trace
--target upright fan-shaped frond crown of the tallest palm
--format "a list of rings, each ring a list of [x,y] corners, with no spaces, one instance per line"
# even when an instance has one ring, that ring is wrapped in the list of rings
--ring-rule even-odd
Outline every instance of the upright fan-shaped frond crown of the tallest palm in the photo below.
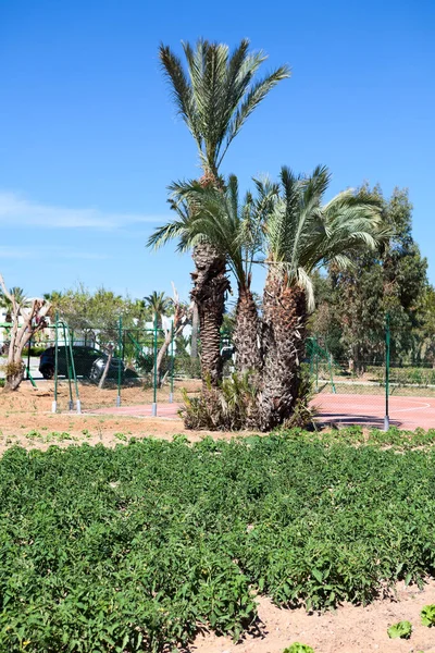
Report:
[[[178,114],[198,147],[201,165],[217,177],[219,167],[241,126],[281,81],[290,76],[279,66],[263,79],[258,70],[266,59],[250,52],[243,39],[233,52],[225,44],[199,39],[195,46],[183,44],[187,66],[169,46],[160,46],[160,61]],[[187,70],[186,70],[187,69]]]

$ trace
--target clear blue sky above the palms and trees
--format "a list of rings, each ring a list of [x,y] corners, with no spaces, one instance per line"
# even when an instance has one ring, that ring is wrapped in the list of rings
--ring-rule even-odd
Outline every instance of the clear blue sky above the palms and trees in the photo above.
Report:
[[[0,2],[0,271],[28,295],[83,281],[187,297],[191,262],[145,249],[166,185],[198,174],[157,58],[160,41],[249,37],[288,63],[233,143],[243,185],[327,164],[332,193],[409,187],[435,281],[435,3],[147,0]]]

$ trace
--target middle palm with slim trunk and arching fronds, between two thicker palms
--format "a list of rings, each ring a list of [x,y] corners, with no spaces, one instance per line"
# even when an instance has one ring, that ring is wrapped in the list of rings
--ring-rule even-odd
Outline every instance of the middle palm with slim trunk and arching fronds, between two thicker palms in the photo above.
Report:
[[[240,204],[235,175],[228,177],[222,190],[199,182],[175,184],[172,190],[178,201],[173,202],[173,208],[178,218],[156,230],[148,241],[149,246],[157,248],[177,238],[182,251],[207,244],[226,261],[238,288],[234,344],[240,372],[259,372],[262,366],[259,313],[251,292],[252,264],[262,245],[262,222],[277,197],[275,184],[256,181],[256,187],[257,196],[248,193]],[[188,210],[192,205],[195,212]],[[220,334],[213,332],[209,337],[220,338]],[[214,364],[214,347],[219,344],[220,340],[217,343],[213,340],[213,347],[202,353],[202,369],[207,374]]]

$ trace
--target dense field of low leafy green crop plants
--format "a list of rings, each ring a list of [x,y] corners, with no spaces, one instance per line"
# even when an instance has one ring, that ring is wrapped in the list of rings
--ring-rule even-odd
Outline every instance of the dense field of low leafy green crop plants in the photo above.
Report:
[[[258,591],[318,609],[421,584],[435,451],[334,436],[9,449],[0,651],[163,651],[201,624],[237,639]]]

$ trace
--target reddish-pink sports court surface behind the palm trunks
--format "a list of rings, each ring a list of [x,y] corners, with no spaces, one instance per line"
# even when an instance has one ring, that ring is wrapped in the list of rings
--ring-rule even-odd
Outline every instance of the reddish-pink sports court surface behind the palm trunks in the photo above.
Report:
[[[318,421],[324,424],[384,428],[384,396],[322,393],[312,403],[319,409]],[[157,416],[177,419],[178,410],[178,404],[158,404]],[[99,408],[88,412],[146,418],[151,417],[151,405]],[[407,430],[435,428],[435,397],[389,397],[389,423]]]

